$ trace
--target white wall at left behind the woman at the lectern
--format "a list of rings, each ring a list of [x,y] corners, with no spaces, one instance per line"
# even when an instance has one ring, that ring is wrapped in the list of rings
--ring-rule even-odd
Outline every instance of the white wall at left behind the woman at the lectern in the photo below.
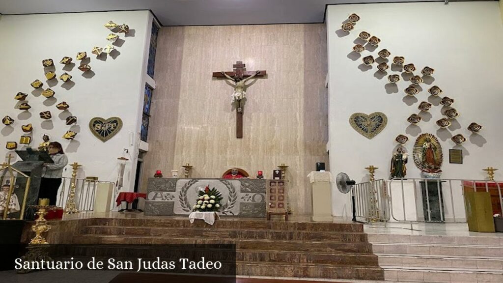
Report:
[[[109,20],[128,24],[130,33],[126,37],[119,34],[124,42],[122,45],[120,40],[117,42],[121,46],[116,46],[119,52],[114,56],[97,59],[91,50],[93,46],[105,47],[109,43],[106,37],[110,31],[104,27]],[[132,190],[151,21],[148,11],[3,16],[0,20],[0,116],[9,115],[16,122],[12,127],[0,125],[0,156],[9,154],[6,142],[19,143],[23,134],[21,125],[32,123],[31,146],[36,148],[41,135],[49,134],[52,141],[63,145],[70,163],[83,165],[78,177],[98,176],[100,180],[115,181],[117,158],[123,149],[128,149],[130,162],[126,167],[124,190]],[[89,64],[94,76],[85,74],[84,77],[77,68],[78,51],[87,51],[91,57]],[[55,100],[46,100],[38,96],[39,92],[34,91],[30,83],[39,79],[47,88],[42,60],[52,58],[59,77],[63,73],[63,65],[59,63],[63,56],[70,56],[75,62],[71,72],[65,71],[73,76],[74,85],[67,90],[58,80],[56,86],[51,86],[56,92]],[[14,96],[18,92],[29,94],[27,100],[32,106],[29,113],[15,109],[18,101]],[[61,101],[70,105],[65,112],[55,107]],[[39,117],[38,113],[46,110],[52,113],[51,121]],[[64,119],[70,113],[77,117],[77,125],[65,125]],[[88,126],[91,118],[97,116],[122,118],[122,130],[108,142],[101,142]],[[71,142],[61,138],[69,129],[78,132]],[[70,169],[68,166],[64,176],[71,175]]]

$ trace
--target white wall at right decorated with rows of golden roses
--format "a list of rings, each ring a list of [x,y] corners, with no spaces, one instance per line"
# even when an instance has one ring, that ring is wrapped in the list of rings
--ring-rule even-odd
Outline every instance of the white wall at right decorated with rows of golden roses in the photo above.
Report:
[[[361,17],[349,35],[340,28],[348,15]],[[503,179],[503,28],[497,2],[398,3],[328,6],[327,48],[329,73],[329,137],[330,168],[332,173],[346,172],[357,182],[368,180],[364,167],[379,167],[376,178],[389,178],[390,157],[398,134],[406,134],[405,146],[411,154],[415,139],[421,133],[433,133],[440,138],[444,151],[442,178],[484,179],[482,168],[500,168],[497,179]],[[339,31],[338,31],[339,30]],[[361,31],[381,39],[373,52],[364,51],[355,58],[354,40]],[[422,84],[424,91],[416,99],[405,98],[403,90],[409,85],[401,81],[393,90],[387,76],[400,74],[388,69],[386,76],[376,74],[377,64],[363,70],[361,58],[386,48],[395,55],[405,56],[414,63],[421,75],[424,66],[435,69],[434,82]],[[455,99],[460,112],[449,130],[439,130],[435,121],[442,117],[442,105],[430,110],[431,117],[410,126],[406,121],[421,101],[435,102],[428,88],[438,85],[443,95]],[[432,102],[432,103],[433,103]],[[438,104],[438,102],[435,102]],[[388,116],[386,128],[372,139],[360,135],[349,124],[354,112],[383,112]],[[471,122],[484,126],[480,135],[470,135],[466,127]],[[462,133],[467,141],[456,146],[451,137]],[[449,164],[449,149],[463,150],[463,164]],[[419,177],[412,157],[407,164],[407,177]],[[350,214],[348,195],[333,189],[333,214]]]

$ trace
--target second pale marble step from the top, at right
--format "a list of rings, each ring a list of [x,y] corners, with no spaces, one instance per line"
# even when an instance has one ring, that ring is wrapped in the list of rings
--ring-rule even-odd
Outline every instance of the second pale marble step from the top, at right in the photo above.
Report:
[[[449,245],[420,243],[372,243],[374,253],[423,254],[447,256],[503,257],[503,246]]]

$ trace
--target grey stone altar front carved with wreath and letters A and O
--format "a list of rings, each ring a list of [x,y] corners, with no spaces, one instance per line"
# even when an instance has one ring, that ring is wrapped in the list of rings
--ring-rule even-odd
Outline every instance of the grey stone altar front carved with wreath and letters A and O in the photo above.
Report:
[[[266,217],[264,179],[149,178],[145,215],[189,215],[200,189],[209,186],[222,193],[220,215]]]

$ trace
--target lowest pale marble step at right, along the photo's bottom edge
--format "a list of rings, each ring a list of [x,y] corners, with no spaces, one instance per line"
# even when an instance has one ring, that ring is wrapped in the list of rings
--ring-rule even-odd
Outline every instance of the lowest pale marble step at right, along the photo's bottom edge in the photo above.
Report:
[[[424,268],[383,266],[386,281],[428,283],[501,283],[503,270],[478,270],[466,268]]]

